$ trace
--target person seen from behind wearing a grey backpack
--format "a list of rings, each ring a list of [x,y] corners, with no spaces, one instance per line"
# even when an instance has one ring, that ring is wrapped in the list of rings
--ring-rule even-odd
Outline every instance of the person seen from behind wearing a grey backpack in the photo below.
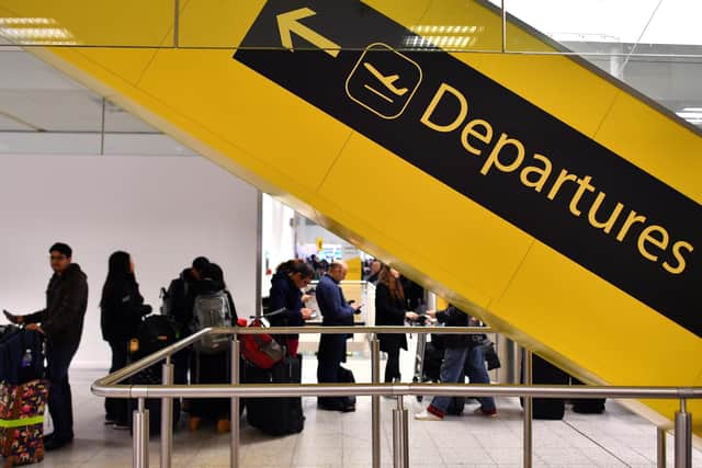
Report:
[[[237,311],[224,281],[219,265],[210,263],[202,272],[195,285],[196,296],[193,307],[193,331],[207,327],[231,327],[237,322]],[[228,335],[210,335],[195,344],[193,374],[195,384],[228,384],[230,377],[230,359],[228,353]],[[217,421],[217,432],[229,432],[231,429],[230,400],[193,399],[190,403],[191,431],[196,431],[203,418]]]

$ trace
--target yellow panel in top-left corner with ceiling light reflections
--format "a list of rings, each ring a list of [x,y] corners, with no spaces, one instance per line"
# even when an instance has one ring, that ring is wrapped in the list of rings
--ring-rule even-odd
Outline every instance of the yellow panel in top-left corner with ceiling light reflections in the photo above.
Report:
[[[29,45],[158,47],[173,43],[174,4],[173,0],[1,0],[0,18],[25,20],[2,25],[2,35]],[[32,33],[23,31],[27,26]]]

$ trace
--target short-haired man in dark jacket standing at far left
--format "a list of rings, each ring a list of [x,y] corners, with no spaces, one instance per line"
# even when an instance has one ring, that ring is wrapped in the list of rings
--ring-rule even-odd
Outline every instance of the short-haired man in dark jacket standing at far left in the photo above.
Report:
[[[54,274],[46,289],[46,308],[27,316],[4,312],[13,323],[26,323],[27,330],[46,335],[46,359],[49,380],[48,404],[54,433],[45,437],[44,447],[54,450],[73,440],[73,409],[68,381],[68,367],[83,331],[88,307],[88,277],[72,263],[72,249],[63,242],[49,248]]]

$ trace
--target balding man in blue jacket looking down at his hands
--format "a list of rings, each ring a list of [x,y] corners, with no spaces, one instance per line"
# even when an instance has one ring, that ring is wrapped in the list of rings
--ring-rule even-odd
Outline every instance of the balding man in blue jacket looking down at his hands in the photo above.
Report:
[[[353,315],[359,312],[361,305],[349,305],[343,297],[339,283],[347,276],[349,267],[343,262],[333,262],[329,271],[319,279],[317,286],[317,305],[322,316],[322,326],[349,327],[353,326]],[[347,361],[347,339],[344,334],[322,334],[317,353],[317,381],[320,384],[337,384],[346,381],[341,367]],[[350,397],[319,397],[317,406],[322,410],[349,412],[355,411],[354,399]]]

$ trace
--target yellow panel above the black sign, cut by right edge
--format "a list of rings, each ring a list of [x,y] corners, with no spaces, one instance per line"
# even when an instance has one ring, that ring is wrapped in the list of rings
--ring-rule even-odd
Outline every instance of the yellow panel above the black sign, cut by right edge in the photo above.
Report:
[[[635,123],[635,125],[632,125]],[[702,203],[702,138],[677,119],[619,93],[596,139],[641,169]],[[702,220],[698,219],[698,222]]]

